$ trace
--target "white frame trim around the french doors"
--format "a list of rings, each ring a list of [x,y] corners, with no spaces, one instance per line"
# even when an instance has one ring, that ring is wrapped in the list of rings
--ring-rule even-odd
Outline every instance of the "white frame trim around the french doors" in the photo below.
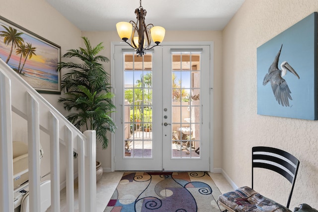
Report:
[[[213,119],[213,100],[214,100],[214,91],[213,91],[213,87],[214,87],[214,42],[213,41],[197,41],[197,42],[163,42],[161,43],[162,46],[165,45],[173,45],[173,46],[189,46],[189,45],[209,45],[210,46],[210,79],[209,79],[209,89],[210,89],[210,171],[214,170],[214,140],[213,140],[213,126],[214,126],[214,119]],[[115,66],[114,66],[114,54],[115,54],[115,46],[127,46],[127,48],[131,48],[129,47],[127,44],[123,43],[123,42],[111,42],[111,49],[110,49],[110,53],[111,53],[111,60],[110,60],[110,67],[111,67],[111,71],[110,71],[110,77],[111,77],[111,84],[114,84],[114,75],[115,75]],[[160,48],[160,47],[155,47],[155,48]],[[114,88],[113,88],[114,89]],[[114,90],[113,90],[114,91]],[[115,91],[114,91],[115,92]],[[114,139],[114,134],[111,134],[111,171],[115,171],[115,139]]]

